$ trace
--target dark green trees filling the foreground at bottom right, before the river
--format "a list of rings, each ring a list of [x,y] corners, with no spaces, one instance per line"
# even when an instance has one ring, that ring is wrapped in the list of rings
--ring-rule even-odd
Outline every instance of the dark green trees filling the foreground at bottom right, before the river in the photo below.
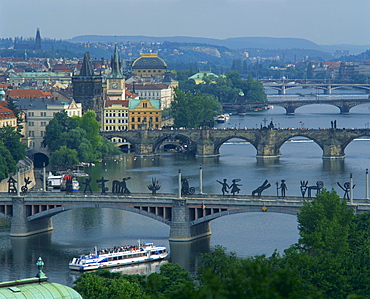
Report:
[[[176,264],[149,276],[83,274],[83,298],[370,298],[370,214],[354,214],[334,190],[305,201],[299,240],[280,255],[238,258],[216,246],[195,277]]]

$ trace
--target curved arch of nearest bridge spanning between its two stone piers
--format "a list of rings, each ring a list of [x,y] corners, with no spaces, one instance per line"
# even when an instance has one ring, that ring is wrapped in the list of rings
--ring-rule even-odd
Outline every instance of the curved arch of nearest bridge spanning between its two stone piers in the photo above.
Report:
[[[45,211],[36,213],[32,216],[28,216],[27,220],[28,221],[33,221],[33,220],[42,219],[42,218],[50,218],[54,215],[57,215],[57,214],[60,214],[60,213],[63,213],[63,212],[69,211],[69,210],[83,209],[83,208],[99,208],[99,209],[100,208],[103,208],[103,209],[107,208],[107,209],[124,210],[124,211],[132,212],[132,213],[136,213],[136,214],[139,214],[139,215],[142,215],[142,216],[152,218],[154,220],[165,223],[167,225],[171,224],[169,220],[167,220],[163,217],[154,215],[152,213],[149,213],[147,211],[143,211],[143,210],[139,210],[139,209],[136,209],[136,208],[133,208],[133,207],[123,206],[123,205],[119,205],[119,204],[112,204],[112,203],[82,203],[82,204],[65,205],[65,206],[60,206],[60,207],[56,207],[56,208],[53,208],[53,209],[45,210]]]

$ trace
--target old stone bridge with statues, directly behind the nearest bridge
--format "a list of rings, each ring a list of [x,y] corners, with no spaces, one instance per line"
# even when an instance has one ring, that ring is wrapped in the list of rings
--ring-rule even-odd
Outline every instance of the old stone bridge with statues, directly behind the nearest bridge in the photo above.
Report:
[[[246,140],[257,151],[257,158],[278,158],[281,146],[293,137],[313,140],[323,152],[324,159],[344,158],[346,146],[355,138],[370,136],[370,129],[190,129],[135,130],[100,133],[105,138],[124,138],[137,155],[159,154],[160,145],[167,139],[177,139],[188,145],[198,157],[220,155],[220,147],[232,138]]]

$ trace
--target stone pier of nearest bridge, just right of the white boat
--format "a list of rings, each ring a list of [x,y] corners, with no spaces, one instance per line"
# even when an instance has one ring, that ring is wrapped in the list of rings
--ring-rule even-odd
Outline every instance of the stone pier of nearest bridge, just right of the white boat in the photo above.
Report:
[[[189,208],[185,199],[172,201],[172,220],[169,240],[172,242],[187,242],[211,234],[209,221],[191,225]]]

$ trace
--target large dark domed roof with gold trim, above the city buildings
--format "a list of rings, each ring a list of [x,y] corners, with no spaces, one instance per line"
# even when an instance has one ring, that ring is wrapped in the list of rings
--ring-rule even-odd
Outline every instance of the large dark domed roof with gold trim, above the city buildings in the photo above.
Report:
[[[140,57],[132,62],[131,68],[136,76],[163,76],[167,70],[167,64],[158,57],[158,53],[140,53]]]

